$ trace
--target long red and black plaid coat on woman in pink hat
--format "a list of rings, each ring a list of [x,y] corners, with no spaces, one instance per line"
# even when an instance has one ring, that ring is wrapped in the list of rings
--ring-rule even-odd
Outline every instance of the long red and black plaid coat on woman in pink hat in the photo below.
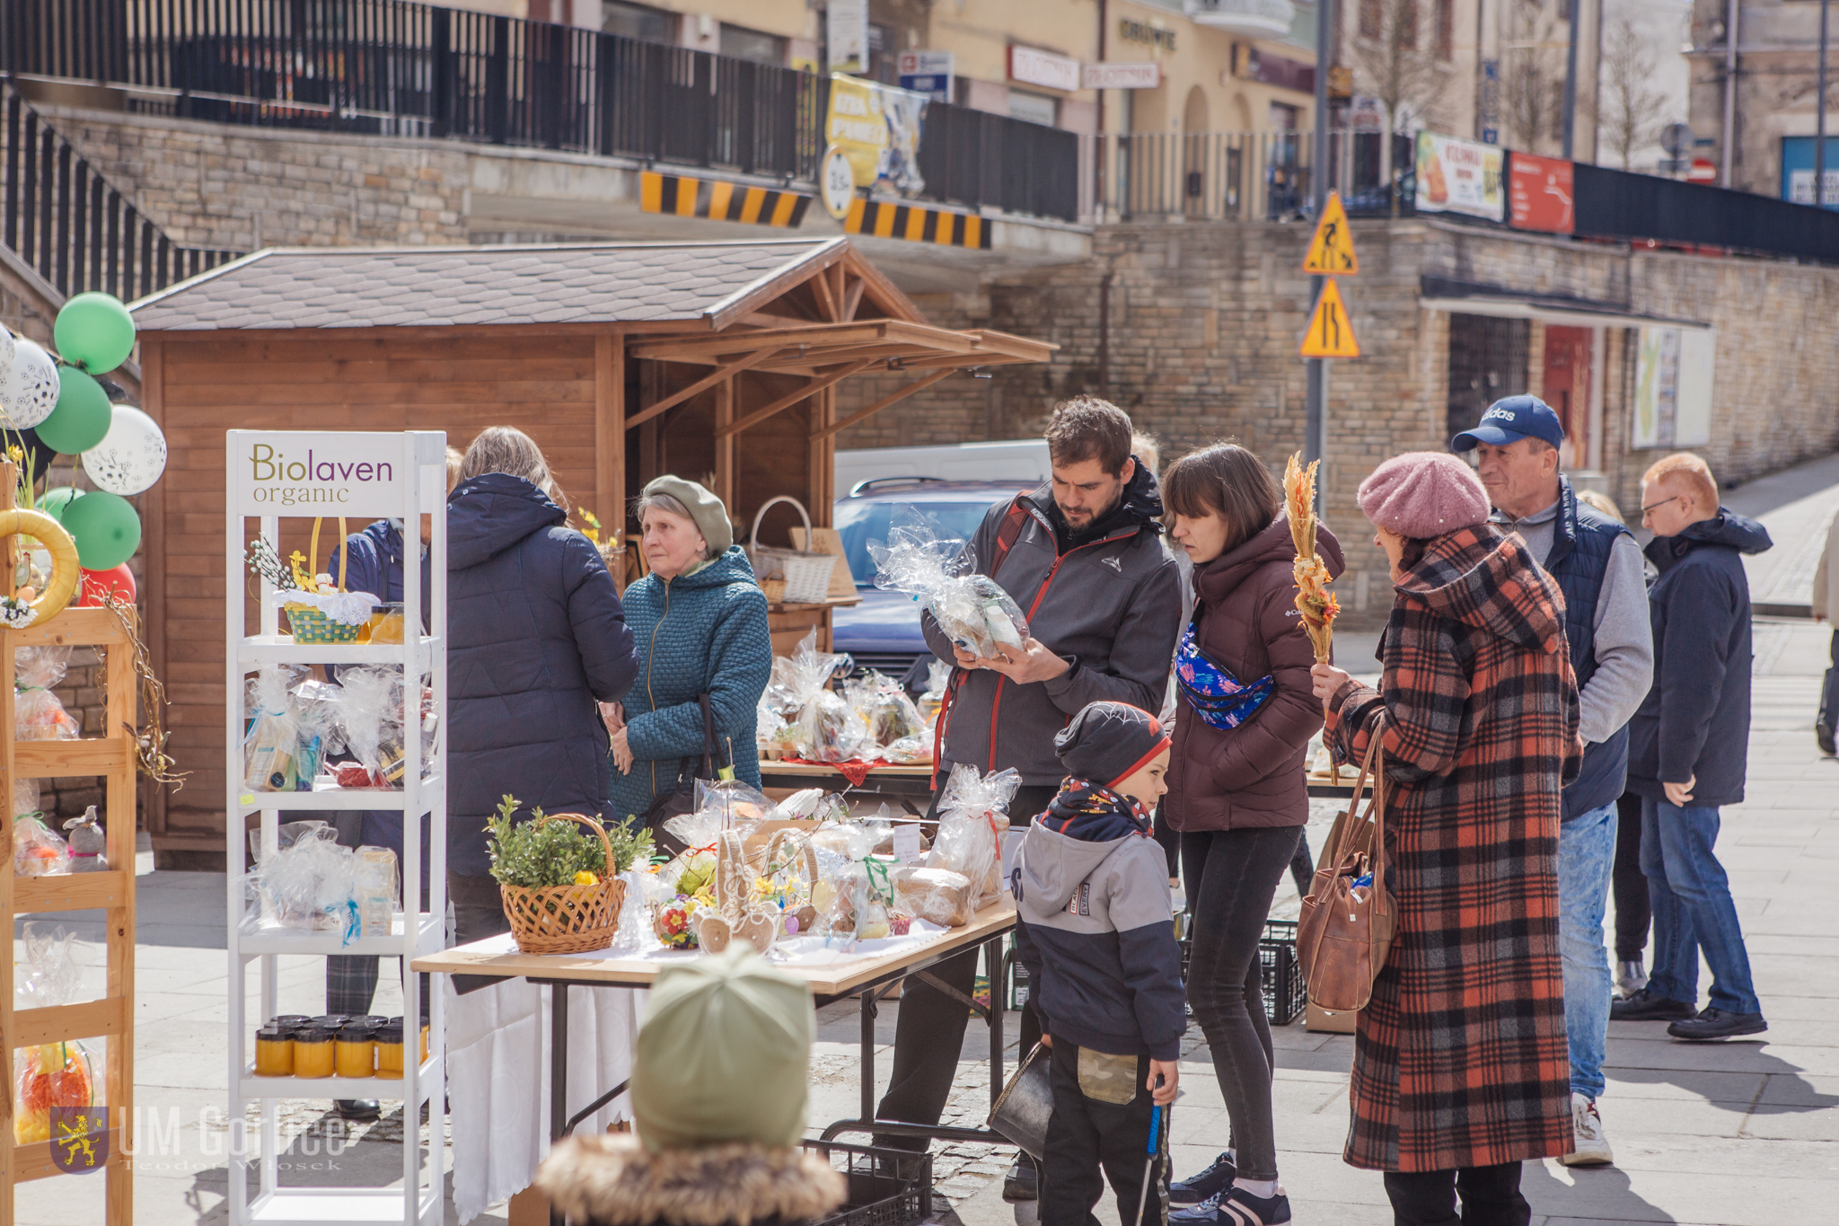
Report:
[[[1344,684],[1328,743],[1383,728],[1398,936],[1359,1015],[1346,1162],[1447,1171],[1572,1147],[1558,958],[1559,790],[1583,757],[1563,597],[1512,533],[1425,542],[1381,689]]]

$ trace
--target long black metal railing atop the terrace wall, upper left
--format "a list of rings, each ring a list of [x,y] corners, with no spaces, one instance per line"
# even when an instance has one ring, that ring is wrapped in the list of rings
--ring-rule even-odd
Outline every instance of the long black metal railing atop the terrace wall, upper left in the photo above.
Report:
[[[0,72],[142,112],[447,136],[815,182],[829,79],[410,0],[0,0]],[[1078,217],[1070,132],[927,110],[925,195]],[[936,176],[936,186],[931,184]]]

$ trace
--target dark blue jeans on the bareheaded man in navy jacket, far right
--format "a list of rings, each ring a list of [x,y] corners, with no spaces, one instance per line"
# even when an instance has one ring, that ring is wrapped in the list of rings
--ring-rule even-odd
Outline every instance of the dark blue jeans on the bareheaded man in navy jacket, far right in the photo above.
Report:
[[[1699,1002],[1699,950],[1712,969],[1714,1009],[1762,1013],[1749,978],[1743,928],[1730,879],[1712,855],[1718,809],[1640,801],[1640,871],[1653,902],[1653,972],[1648,991],[1688,1005]]]

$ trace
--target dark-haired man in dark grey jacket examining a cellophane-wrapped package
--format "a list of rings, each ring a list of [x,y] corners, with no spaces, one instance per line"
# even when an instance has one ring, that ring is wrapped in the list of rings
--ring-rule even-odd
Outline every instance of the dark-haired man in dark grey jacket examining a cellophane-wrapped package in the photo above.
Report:
[[[989,507],[965,546],[973,570],[1021,607],[1028,640],[984,660],[921,616],[932,654],[956,664],[938,717],[936,778],[956,763],[986,774],[1015,768],[1022,778],[1010,805],[1015,825],[1054,800],[1063,776],[1054,735],[1068,719],[1100,700],[1162,708],[1181,630],[1181,577],[1157,522],[1162,498],[1155,472],[1131,458],[1131,419],[1096,397],[1074,397],[1054,408],[1046,443],[1054,480]],[[975,978],[975,948],[908,978],[877,1119],[938,1123]],[[1039,1035],[1035,1013],[1024,1011],[1022,1050]],[[879,1134],[875,1143],[923,1149],[925,1140]],[[1011,1175],[1006,1195],[1032,1198],[1032,1167],[1019,1164]]]

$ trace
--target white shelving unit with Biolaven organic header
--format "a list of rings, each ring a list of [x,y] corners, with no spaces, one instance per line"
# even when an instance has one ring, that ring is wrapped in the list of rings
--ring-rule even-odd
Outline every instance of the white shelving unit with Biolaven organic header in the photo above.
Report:
[[[226,708],[226,866],[230,912],[230,1222],[232,1226],[333,1226],[346,1222],[399,1222],[427,1226],[443,1220],[445,1193],[445,1083],[443,1083],[443,1004],[440,993],[430,1002],[428,1057],[419,1066],[405,1062],[403,1079],[375,1077],[257,1077],[254,1073],[256,1029],[280,1013],[276,1000],[276,959],[287,956],[377,954],[401,958],[406,969],[417,954],[445,948],[447,917],[447,436],[430,430],[401,434],[359,432],[274,432],[230,430],[226,439],[226,517],[224,517],[224,621],[228,689]],[[259,601],[257,632],[246,618],[246,592],[267,594],[267,581],[248,575],[245,550],[259,531],[281,548],[283,518],[326,517],[320,531],[320,557],[313,566],[327,572],[326,542],[331,540],[331,573],[337,575],[338,517],[349,531],[379,518],[399,518],[405,526],[403,566],[403,643],[296,645],[281,632],[280,612]],[[421,566],[416,535],[419,517],[432,517],[428,627],[434,634],[416,634],[421,608]],[[252,529],[248,520],[259,520]],[[327,531],[329,529],[329,531]],[[285,555],[285,550],[283,550]],[[246,728],[245,687],[250,675],[267,664],[394,664],[403,667],[405,772],[399,790],[314,790],[250,792],[243,779],[243,737]],[[423,763],[416,708],[423,678],[434,693],[438,735],[432,761]],[[423,776],[427,766],[427,776]],[[403,822],[403,899],[414,906],[421,899],[421,814],[428,816],[428,910],[397,912],[392,936],[357,937],[340,943],[335,932],[296,928],[250,928],[245,921],[248,831],[261,831],[263,855],[276,847],[281,811],[377,811],[401,809]],[[257,983],[259,1016],[246,1009],[250,976]],[[421,1013],[421,976],[406,974],[403,983],[403,1046],[419,1053],[416,1020]],[[381,1099],[403,1103],[403,1186],[394,1187],[302,1187],[280,1182],[278,1099]],[[237,1121],[250,1103],[261,1107],[259,1152],[237,1145]],[[421,1158],[419,1116],[428,1108],[428,1160]],[[250,1175],[256,1175],[254,1189]]]

